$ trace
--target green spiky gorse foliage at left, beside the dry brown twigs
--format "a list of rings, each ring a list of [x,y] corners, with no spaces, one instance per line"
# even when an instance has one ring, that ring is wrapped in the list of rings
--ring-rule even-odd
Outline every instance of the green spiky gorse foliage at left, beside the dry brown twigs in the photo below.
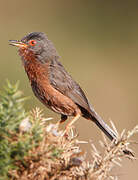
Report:
[[[8,179],[8,172],[18,168],[17,161],[23,161],[28,151],[41,139],[38,120],[32,120],[26,133],[21,133],[19,129],[22,121],[33,118],[25,112],[23,104],[26,98],[18,90],[18,85],[7,81],[0,92],[0,180]]]

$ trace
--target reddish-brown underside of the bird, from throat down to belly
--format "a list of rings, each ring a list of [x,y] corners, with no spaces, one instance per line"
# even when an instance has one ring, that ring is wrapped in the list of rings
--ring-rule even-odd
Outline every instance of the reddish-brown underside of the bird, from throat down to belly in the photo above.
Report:
[[[50,61],[42,64],[36,60],[33,55],[27,55],[27,53],[23,57],[25,58],[23,58],[24,68],[32,90],[44,105],[57,113],[68,116],[75,116],[78,113],[81,114],[78,106],[70,98],[57,91],[50,84]]]

